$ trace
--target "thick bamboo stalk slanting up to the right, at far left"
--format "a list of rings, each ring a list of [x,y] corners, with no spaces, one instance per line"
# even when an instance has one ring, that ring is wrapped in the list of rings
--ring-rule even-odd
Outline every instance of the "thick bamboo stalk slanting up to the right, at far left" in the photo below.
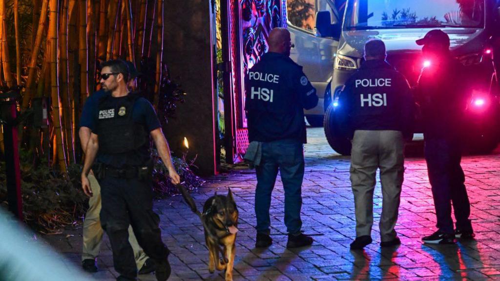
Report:
[[[46,28],[46,19],[47,19],[47,7],[48,0],[43,0],[41,5],[41,13],[40,20],[38,24],[38,30],[36,31],[36,38],[34,42],[33,52],[31,53],[31,61],[28,65],[28,77],[26,80],[26,88],[24,92],[24,96],[22,97],[22,105],[21,109],[25,110],[28,107],[29,101],[31,100],[32,91],[31,87],[34,83],[34,79],[36,76],[36,61],[38,58],[38,53],[40,52],[41,40],[43,36],[43,32]]]

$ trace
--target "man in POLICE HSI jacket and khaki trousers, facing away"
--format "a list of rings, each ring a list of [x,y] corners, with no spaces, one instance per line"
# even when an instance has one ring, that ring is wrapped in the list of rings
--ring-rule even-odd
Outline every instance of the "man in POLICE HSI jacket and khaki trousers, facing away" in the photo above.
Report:
[[[352,139],[350,181],[356,239],[351,249],[371,243],[373,190],[380,169],[380,246],[400,244],[394,226],[404,173],[404,139],[413,135],[414,101],[406,78],[385,61],[385,44],[370,39],[364,63],[345,83],[338,102],[344,132]]]

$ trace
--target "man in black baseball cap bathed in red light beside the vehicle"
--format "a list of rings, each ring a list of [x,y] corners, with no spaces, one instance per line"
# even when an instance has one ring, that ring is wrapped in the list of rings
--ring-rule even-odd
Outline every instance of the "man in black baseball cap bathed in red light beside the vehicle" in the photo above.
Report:
[[[442,30],[430,30],[416,43],[423,45],[423,57],[429,62],[420,73],[415,99],[422,113],[425,161],[437,217],[437,231],[423,237],[422,241],[452,244],[456,238],[474,237],[465,176],[460,166],[466,76],[463,65],[451,55],[449,37]]]

